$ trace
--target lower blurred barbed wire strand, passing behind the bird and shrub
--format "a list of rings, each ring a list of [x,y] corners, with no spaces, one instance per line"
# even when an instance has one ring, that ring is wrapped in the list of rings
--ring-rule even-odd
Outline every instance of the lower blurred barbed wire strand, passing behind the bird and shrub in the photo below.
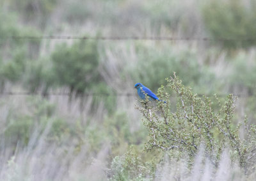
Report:
[[[1,95],[6,95],[6,96],[72,96],[76,95],[74,93],[68,93],[68,92],[22,92],[22,91],[4,91],[0,92]],[[84,97],[138,97],[136,93],[79,93],[77,94],[79,96],[84,96]],[[211,94],[197,94],[198,97],[215,97],[215,95]],[[228,94],[219,94],[216,95],[217,97],[227,97]],[[256,97],[256,95],[244,95],[244,94],[234,94],[235,97]],[[171,97],[178,97],[178,96],[171,96]]]

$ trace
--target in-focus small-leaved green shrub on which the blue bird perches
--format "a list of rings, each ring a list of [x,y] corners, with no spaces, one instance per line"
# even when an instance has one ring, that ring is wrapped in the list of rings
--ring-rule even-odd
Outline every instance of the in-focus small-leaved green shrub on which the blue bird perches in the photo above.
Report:
[[[137,107],[143,114],[143,122],[150,136],[145,150],[158,149],[173,154],[176,151],[179,156],[189,155],[192,161],[204,143],[205,154],[212,162],[218,162],[223,150],[229,147],[232,161],[238,160],[244,172],[248,171],[255,160],[256,127],[250,126],[245,119],[243,126],[246,127],[246,139],[240,138],[242,123],[235,125],[232,120],[235,98],[229,95],[221,105],[218,98],[212,101],[210,98],[198,97],[191,88],[185,88],[175,74],[167,81],[166,88],[177,95],[175,112],[170,111],[170,94],[164,93],[163,86],[159,88],[158,95],[162,100],[167,100],[166,104],[158,102],[156,108],[148,104]],[[218,105],[218,109],[213,108],[214,104]]]

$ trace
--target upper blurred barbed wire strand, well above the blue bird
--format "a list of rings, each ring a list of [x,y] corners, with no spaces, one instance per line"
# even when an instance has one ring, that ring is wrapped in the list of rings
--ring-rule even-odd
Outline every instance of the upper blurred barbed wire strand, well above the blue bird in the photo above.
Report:
[[[172,36],[0,36],[0,39],[17,40],[165,40],[165,41],[256,41],[256,38],[209,38],[209,37],[172,37]]]

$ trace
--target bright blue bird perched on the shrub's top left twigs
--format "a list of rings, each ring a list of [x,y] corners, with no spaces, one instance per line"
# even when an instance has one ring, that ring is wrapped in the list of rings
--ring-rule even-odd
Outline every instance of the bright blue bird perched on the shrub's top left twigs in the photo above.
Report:
[[[143,84],[141,84],[141,83],[135,84],[134,88],[137,89],[138,95],[143,100],[146,99],[146,95],[147,95],[148,99],[150,101],[152,101],[152,100],[163,101],[163,100],[160,100],[150,89],[148,89],[147,87],[143,86]],[[166,102],[164,101],[164,103],[166,103]]]

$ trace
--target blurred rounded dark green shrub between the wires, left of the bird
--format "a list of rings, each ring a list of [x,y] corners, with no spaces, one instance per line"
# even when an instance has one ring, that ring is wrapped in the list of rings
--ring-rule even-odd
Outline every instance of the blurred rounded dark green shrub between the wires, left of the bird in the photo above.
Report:
[[[79,95],[102,81],[97,70],[99,58],[96,42],[81,40],[72,46],[60,45],[52,53],[52,63],[55,82],[67,86],[70,93]]]

